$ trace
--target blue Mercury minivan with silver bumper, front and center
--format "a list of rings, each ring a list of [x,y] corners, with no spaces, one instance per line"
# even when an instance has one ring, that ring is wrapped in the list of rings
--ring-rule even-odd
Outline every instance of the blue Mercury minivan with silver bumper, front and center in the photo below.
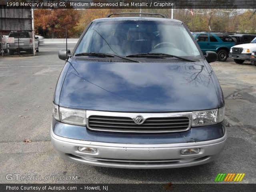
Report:
[[[209,65],[217,54],[204,56],[181,21],[96,19],[74,51],[60,50],[59,58],[66,54],[51,126],[62,158],[177,168],[211,162],[223,150],[224,98]]]

